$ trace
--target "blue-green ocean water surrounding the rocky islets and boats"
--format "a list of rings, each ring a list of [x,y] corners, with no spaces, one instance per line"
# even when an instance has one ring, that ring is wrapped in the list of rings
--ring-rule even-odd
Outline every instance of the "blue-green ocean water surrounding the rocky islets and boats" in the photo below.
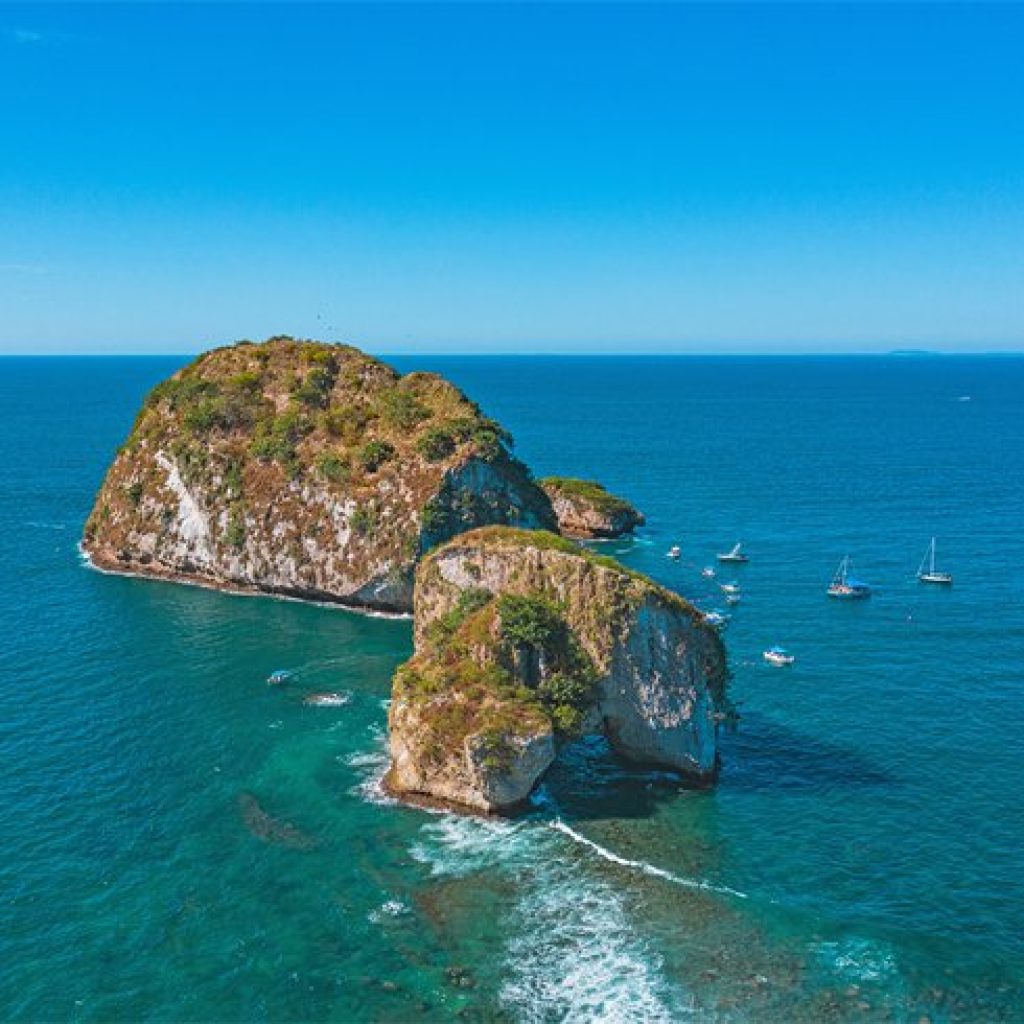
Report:
[[[410,624],[84,566],[180,360],[6,359],[0,1018],[1024,1019],[1024,360],[393,361],[633,499],[602,549],[701,606],[745,543],[719,785],[591,740],[515,820],[382,800]]]

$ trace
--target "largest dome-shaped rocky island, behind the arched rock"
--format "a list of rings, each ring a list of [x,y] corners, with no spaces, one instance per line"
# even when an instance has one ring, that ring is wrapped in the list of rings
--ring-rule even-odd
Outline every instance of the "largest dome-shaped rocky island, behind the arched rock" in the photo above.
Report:
[[[150,394],[83,544],[102,568],[409,611],[432,545],[554,526],[508,445],[435,375],[348,346],[243,342]]]

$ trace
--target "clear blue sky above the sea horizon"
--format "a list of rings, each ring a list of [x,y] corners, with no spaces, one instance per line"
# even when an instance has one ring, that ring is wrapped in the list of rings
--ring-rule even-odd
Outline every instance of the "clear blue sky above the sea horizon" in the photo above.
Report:
[[[0,351],[1024,349],[1024,6],[0,5]]]

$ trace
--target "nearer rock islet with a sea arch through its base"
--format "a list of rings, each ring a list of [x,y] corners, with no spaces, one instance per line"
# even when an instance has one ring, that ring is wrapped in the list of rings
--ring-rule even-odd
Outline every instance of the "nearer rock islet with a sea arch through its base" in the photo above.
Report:
[[[389,712],[394,793],[509,809],[559,741],[590,732],[634,761],[715,775],[722,642],[610,558],[552,534],[474,530],[421,563],[415,634]]]

